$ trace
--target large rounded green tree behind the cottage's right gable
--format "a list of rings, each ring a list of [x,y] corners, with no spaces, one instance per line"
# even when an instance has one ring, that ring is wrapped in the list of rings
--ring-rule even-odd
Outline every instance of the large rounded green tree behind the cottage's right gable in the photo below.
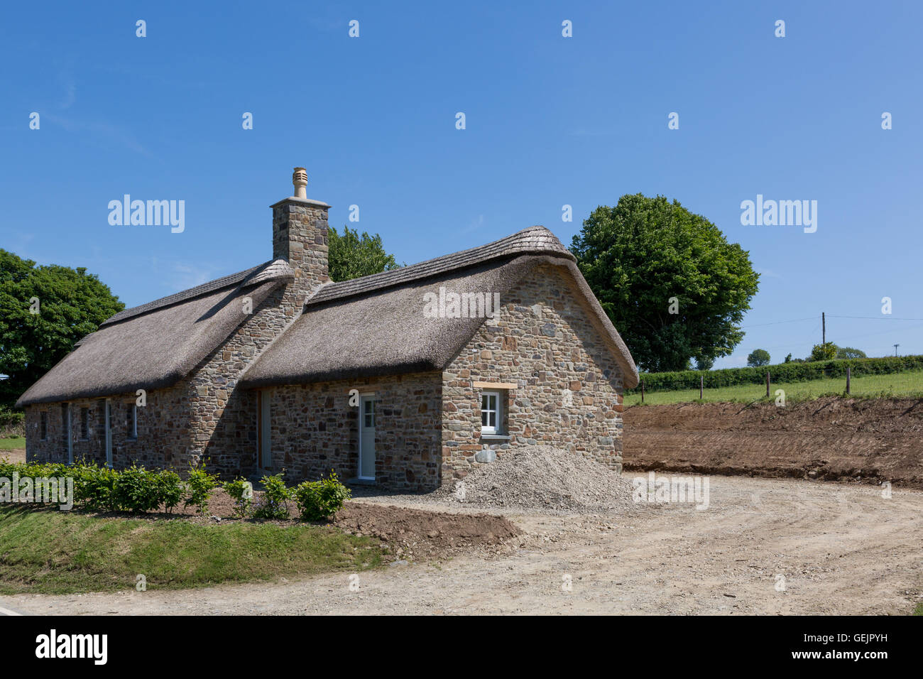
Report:
[[[570,251],[644,370],[683,370],[743,339],[759,274],[746,250],[677,200],[639,193],[598,207]]]

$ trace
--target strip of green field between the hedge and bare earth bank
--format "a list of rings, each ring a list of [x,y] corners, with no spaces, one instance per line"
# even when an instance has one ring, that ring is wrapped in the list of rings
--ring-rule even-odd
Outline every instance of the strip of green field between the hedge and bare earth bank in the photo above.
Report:
[[[823,379],[810,382],[788,382],[770,385],[770,399],[766,399],[765,384],[738,384],[737,386],[705,389],[702,403],[751,403],[759,400],[775,400],[775,390],[785,391],[785,401],[808,401],[819,396],[844,394],[846,379]],[[850,383],[851,395],[860,398],[874,397],[923,397],[923,370],[896,372],[891,375],[863,375],[854,377]],[[684,389],[676,392],[648,392],[644,403],[659,406],[672,403],[698,403],[698,389]],[[625,396],[626,406],[641,403],[641,394]]]

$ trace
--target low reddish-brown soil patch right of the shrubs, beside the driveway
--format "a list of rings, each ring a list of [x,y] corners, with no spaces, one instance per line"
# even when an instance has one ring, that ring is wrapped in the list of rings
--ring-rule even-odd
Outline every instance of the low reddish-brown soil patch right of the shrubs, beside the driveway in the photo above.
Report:
[[[373,503],[346,503],[333,525],[354,535],[382,540],[397,558],[492,547],[520,534],[502,516],[427,512]]]

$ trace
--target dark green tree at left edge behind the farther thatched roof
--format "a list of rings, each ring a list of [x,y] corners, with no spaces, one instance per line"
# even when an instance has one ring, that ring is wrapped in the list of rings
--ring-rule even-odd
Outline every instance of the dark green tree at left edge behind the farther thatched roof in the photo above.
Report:
[[[0,405],[16,399],[83,336],[125,309],[84,268],[36,266],[0,249]],[[38,313],[33,313],[37,310]]]

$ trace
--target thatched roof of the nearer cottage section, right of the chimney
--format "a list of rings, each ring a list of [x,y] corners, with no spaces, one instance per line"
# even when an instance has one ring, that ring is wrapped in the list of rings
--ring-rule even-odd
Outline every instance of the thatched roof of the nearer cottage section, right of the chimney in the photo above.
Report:
[[[424,295],[439,287],[503,295],[543,263],[568,274],[597,330],[608,340],[626,387],[638,382],[628,348],[605,315],[573,255],[543,226],[402,269],[321,287],[304,313],[240,380],[246,386],[318,382],[442,370],[485,321],[426,318]]]

